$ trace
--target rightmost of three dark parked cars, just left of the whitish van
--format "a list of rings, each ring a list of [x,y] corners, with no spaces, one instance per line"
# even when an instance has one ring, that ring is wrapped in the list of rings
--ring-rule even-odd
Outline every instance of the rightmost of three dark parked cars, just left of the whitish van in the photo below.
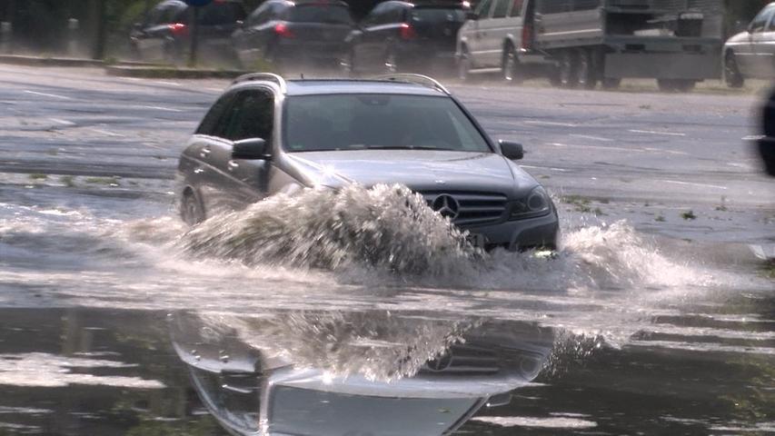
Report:
[[[424,71],[454,65],[466,3],[389,1],[374,7],[347,36],[345,73]]]

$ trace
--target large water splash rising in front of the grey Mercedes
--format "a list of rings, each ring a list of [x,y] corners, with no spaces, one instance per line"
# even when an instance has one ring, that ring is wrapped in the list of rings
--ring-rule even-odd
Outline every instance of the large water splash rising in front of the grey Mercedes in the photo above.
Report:
[[[443,275],[480,254],[405,186],[278,194],[186,233],[187,251],[243,263],[330,270],[353,264]]]

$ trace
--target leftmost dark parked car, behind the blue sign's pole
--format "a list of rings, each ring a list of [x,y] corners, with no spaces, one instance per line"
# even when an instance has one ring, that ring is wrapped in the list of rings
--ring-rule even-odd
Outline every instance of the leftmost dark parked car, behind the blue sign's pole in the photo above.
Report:
[[[245,18],[242,0],[219,0],[198,11],[200,53],[219,59],[231,58],[231,35]],[[130,35],[135,57],[178,63],[191,45],[194,11],[181,0],[156,5]]]

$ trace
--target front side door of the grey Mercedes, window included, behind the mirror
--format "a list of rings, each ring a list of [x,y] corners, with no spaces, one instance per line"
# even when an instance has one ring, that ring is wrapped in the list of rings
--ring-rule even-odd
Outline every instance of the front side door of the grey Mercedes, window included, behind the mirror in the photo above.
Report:
[[[232,159],[233,142],[261,138],[272,144],[274,96],[271,90],[253,88],[237,92],[224,117],[215,163],[224,180],[224,198],[234,209],[262,199],[266,194],[271,163],[268,159]],[[225,152],[222,153],[222,150]],[[221,157],[223,155],[223,158]]]

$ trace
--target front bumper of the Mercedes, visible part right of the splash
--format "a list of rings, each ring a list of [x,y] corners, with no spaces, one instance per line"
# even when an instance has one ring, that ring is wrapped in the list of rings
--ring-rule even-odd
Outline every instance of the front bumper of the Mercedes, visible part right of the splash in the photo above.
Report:
[[[556,211],[536,218],[517,221],[466,227],[469,234],[481,234],[484,249],[505,248],[511,251],[547,248],[554,250],[558,246],[560,220]]]

